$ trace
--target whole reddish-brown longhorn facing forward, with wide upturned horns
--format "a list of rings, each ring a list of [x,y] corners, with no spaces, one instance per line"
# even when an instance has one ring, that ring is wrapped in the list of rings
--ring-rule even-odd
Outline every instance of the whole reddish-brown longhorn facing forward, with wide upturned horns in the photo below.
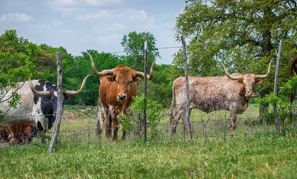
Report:
[[[92,72],[100,77],[99,86],[99,121],[97,128],[99,128],[99,135],[102,133],[103,125],[105,128],[105,139],[111,137],[111,122],[113,124],[114,132],[112,140],[117,139],[117,131],[119,120],[117,116],[122,116],[126,113],[126,109],[132,102],[132,97],[137,95],[137,84],[145,77],[144,72],[137,72],[129,69],[124,65],[119,65],[111,70],[104,70],[97,72],[92,56],[90,56]],[[153,78],[153,61],[147,79]],[[102,115],[100,114],[102,111]],[[103,125],[102,125],[103,124]],[[122,140],[125,139],[126,132],[123,131]]]

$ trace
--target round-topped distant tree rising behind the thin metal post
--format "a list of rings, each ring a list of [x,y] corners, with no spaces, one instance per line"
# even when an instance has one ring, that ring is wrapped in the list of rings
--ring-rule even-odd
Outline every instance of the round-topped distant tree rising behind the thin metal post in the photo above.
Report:
[[[160,58],[159,51],[156,49],[156,39],[149,32],[138,33],[133,31],[128,36],[123,36],[121,45],[127,54],[125,64],[131,69],[144,72],[144,49],[145,41],[148,41],[148,69],[155,58]]]

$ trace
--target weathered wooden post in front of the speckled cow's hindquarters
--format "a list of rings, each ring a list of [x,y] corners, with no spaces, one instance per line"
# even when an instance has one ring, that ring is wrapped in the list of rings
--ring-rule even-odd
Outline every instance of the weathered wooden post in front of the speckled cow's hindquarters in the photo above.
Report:
[[[188,129],[188,139],[192,140],[192,130],[190,124],[190,99],[189,99],[189,80],[188,80],[188,67],[187,67],[187,53],[186,53],[186,41],[184,36],[181,36],[181,40],[183,43],[183,52],[184,52],[184,69],[185,69],[185,81],[186,81],[186,123]]]

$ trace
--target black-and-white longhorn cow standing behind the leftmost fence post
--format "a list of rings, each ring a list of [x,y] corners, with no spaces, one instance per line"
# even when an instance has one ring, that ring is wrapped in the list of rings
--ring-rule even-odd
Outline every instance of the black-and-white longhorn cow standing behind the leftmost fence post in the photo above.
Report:
[[[62,90],[64,100],[71,100],[69,95],[80,94],[85,87],[86,80],[83,80],[81,88],[78,91]],[[8,107],[8,100],[12,93],[17,92],[21,95],[21,104],[16,109]],[[32,92],[34,95],[32,95]],[[2,92],[4,96],[0,96],[0,110],[6,112],[3,121],[7,125],[15,123],[28,122],[37,126],[41,133],[48,131],[55,120],[57,111],[57,90],[56,85],[45,80],[30,80],[24,83],[18,83],[17,88],[10,88],[8,92]],[[33,131],[36,133],[37,131]]]

